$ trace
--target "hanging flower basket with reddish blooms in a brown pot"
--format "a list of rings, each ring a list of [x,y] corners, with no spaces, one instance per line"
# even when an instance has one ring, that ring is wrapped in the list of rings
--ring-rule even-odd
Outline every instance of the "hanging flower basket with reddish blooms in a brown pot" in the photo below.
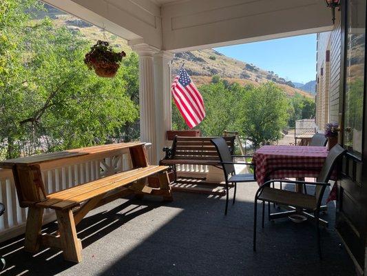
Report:
[[[85,55],[84,62],[99,77],[114,77],[123,57],[126,57],[124,51],[114,52],[107,41],[98,40]]]

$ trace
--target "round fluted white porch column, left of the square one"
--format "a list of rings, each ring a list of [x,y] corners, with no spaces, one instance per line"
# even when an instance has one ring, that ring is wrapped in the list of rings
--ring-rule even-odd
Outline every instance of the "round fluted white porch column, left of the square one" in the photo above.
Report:
[[[131,45],[139,55],[140,141],[151,143],[149,163],[156,164],[156,104],[154,93],[153,55],[158,48],[146,43]]]

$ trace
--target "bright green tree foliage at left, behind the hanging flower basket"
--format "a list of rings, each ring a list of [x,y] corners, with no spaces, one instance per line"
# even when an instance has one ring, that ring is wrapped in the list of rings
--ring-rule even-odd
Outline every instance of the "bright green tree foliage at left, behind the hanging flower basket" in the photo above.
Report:
[[[87,70],[83,58],[93,42],[49,19],[32,20],[29,11],[41,9],[40,2],[0,5],[3,157],[123,139],[125,124],[138,118],[138,105],[126,92],[131,72],[105,79]]]

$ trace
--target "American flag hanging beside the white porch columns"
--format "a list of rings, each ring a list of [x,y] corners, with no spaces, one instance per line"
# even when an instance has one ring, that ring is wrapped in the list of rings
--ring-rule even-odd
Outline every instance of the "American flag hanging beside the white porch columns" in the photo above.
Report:
[[[202,96],[191,81],[186,70],[182,67],[172,83],[172,95],[187,126],[193,128],[198,126],[205,118],[205,107]]]

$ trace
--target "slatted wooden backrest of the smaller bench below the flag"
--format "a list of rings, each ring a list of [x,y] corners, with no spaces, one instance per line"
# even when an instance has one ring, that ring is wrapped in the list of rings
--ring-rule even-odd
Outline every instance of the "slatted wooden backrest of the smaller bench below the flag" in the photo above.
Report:
[[[170,159],[219,160],[211,139],[216,137],[174,137]],[[233,155],[235,137],[223,137]]]

